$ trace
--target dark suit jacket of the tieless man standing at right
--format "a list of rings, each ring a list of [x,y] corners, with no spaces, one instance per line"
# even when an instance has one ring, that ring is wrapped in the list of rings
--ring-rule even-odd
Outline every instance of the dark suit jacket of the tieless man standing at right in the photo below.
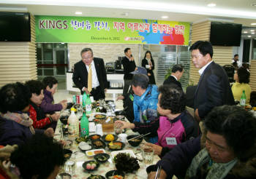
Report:
[[[225,70],[212,62],[203,71],[195,90],[194,106],[203,119],[215,106],[234,105],[235,100]]]

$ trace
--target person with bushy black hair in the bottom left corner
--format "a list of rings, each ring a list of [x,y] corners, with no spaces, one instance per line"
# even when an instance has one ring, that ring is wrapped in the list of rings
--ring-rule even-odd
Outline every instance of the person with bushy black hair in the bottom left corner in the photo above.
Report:
[[[0,178],[55,179],[64,164],[62,146],[45,135],[34,135],[20,145],[0,149]]]

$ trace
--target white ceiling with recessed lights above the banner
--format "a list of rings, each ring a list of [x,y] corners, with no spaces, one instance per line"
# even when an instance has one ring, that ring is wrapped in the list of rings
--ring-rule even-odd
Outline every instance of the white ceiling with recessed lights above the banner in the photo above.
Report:
[[[216,7],[207,7],[215,3]],[[33,15],[119,17],[197,23],[203,20],[255,27],[256,0],[0,0],[0,11]],[[83,12],[75,15],[75,12]],[[162,16],[168,16],[162,19]]]

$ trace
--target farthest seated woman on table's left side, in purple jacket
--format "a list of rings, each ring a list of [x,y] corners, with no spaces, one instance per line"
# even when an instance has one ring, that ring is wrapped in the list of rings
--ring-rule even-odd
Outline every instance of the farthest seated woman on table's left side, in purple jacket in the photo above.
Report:
[[[42,111],[48,114],[52,114],[55,111],[61,111],[62,109],[67,108],[67,100],[61,100],[60,103],[53,104],[53,95],[55,94],[58,87],[57,79],[53,76],[46,76],[44,79],[42,79],[42,83],[45,87],[44,98],[40,104]]]

